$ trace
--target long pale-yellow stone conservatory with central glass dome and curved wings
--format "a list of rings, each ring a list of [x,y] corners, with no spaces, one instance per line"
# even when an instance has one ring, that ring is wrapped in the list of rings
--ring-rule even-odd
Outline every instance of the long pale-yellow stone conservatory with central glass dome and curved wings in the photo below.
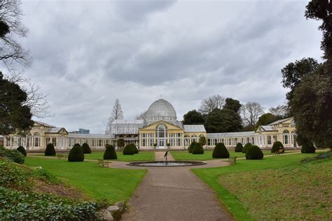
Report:
[[[275,141],[281,141],[289,148],[297,146],[293,117],[260,126],[256,131],[207,133],[203,124],[186,125],[178,121],[174,107],[165,99],[153,102],[144,119],[114,120],[111,134],[74,134],[64,127],[35,121],[29,134],[24,137],[16,134],[6,136],[4,145],[6,148],[22,145],[27,150],[44,150],[48,143],[53,143],[57,150],[68,150],[74,143],[88,143],[92,149],[103,150],[106,144],[116,145],[116,141],[123,138],[125,144],[135,143],[140,149],[184,149],[203,136],[207,140],[207,148],[213,148],[216,143],[234,148],[237,143],[244,145],[248,142],[270,148]]]

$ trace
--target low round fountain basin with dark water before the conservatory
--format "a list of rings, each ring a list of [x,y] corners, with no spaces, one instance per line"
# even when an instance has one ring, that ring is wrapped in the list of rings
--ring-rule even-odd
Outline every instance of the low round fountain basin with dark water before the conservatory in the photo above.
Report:
[[[207,164],[202,161],[139,161],[130,162],[127,165],[130,166],[199,166]]]

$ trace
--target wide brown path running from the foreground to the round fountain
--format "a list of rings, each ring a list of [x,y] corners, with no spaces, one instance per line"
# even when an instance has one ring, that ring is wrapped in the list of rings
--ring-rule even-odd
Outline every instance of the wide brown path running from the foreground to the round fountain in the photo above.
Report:
[[[155,160],[165,152],[155,152]],[[172,160],[172,156],[169,157]],[[225,163],[219,160],[219,166]],[[189,167],[146,167],[123,220],[234,220]]]

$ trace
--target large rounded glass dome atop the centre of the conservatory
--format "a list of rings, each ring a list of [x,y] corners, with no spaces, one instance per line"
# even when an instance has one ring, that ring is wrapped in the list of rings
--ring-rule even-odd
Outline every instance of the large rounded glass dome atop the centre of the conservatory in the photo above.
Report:
[[[177,113],[174,107],[164,99],[154,101],[146,111],[146,122],[148,124],[158,120],[165,120],[172,123],[177,121]]]

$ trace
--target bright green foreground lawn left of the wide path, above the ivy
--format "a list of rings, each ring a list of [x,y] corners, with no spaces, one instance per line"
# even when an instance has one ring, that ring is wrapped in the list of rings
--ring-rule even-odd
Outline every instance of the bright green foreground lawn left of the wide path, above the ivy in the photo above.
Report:
[[[127,201],[144,177],[146,170],[113,169],[95,162],[67,162],[65,159],[26,157],[28,166],[41,166],[68,185],[77,187],[92,199]]]

